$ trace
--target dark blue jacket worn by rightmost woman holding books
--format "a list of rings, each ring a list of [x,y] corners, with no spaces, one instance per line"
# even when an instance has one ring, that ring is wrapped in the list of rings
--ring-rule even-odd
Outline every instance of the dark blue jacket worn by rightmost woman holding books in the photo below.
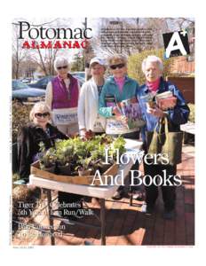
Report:
[[[165,82],[161,78],[160,86],[157,90],[157,93],[162,93],[168,90],[172,91],[173,96],[177,97],[177,105],[174,107],[174,109],[168,110],[167,114],[172,128],[171,131],[178,131],[179,125],[185,124],[187,122],[190,110],[186,105],[186,100],[183,98],[183,95],[178,90],[178,88],[174,84],[171,84],[170,82]],[[159,118],[155,117],[150,113],[147,113],[146,99],[141,98],[146,96],[147,93],[149,93],[149,90],[146,84],[140,86],[137,90],[137,96],[139,99],[139,104],[141,106],[143,119],[146,121],[146,126],[141,130],[143,140],[145,140],[146,131],[154,131],[156,123],[159,121]]]

